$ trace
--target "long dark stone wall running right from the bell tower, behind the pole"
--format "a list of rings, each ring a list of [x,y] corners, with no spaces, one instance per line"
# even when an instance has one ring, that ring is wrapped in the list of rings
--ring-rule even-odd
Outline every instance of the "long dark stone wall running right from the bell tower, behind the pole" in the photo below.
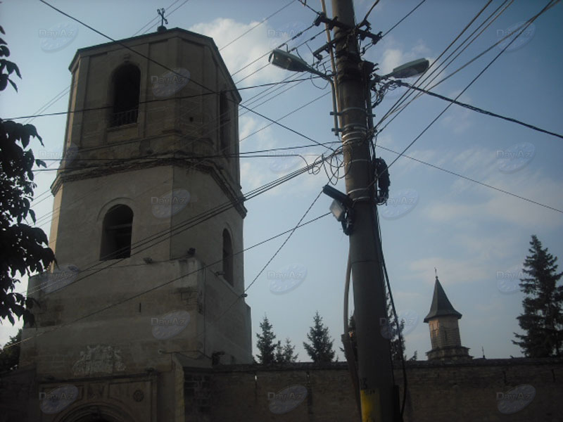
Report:
[[[201,412],[192,394],[197,370],[184,373],[189,421],[359,421],[345,363],[216,367],[201,378],[210,383]],[[400,366],[395,376],[403,402]],[[405,422],[562,420],[563,359],[407,362],[407,382]]]

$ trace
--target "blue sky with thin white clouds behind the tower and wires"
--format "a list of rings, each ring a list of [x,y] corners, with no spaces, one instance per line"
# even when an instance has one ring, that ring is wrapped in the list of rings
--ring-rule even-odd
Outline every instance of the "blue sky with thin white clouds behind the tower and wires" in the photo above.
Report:
[[[272,65],[259,70],[267,64],[267,56],[252,62],[308,28],[315,19],[315,12],[310,8],[321,10],[320,2],[316,1],[307,2],[310,8],[299,1],[182,0],[172,4],[169,0],[170,4],[165,4],[152,0],[53,0],[50,3],[113,39],[156,31],[156,9],[164,7],[167,27],[181,27],[213,37],[239,89],[279,82],[290,76],[308,76],[291,75]],[[327,3],[331,16],[330,2]],[[450,98],[460,94],[501,49],[495,46],[459,72],[455,71],[547,3],[529,0],[510,4],[445,67],[432,84],[445,77],[448,79],[432,91]],[[357,20],[372,6],[368,0],[354,4]],[[387,32],[417,4],[418,1],[410,0],[379,1],[368,18],[372,32]],[[448,53],[500,4],[501,1],[492,1]],[[486,1],[482,0],[427,0],[367,49],[363,58],[378,63],[379,75],[417,58],[428,58],[434,63],[485,5]],[[3,1],[0,16],[0,25],[6,32],[3,38],[11,50],[10,59],[18,64],[23,76],[23,79],[15,79],[17,93],[11,87],[2,92],[0,116],[7,119],[34,115],[38,111],[66,111],[68,94],[65,89],[70,85],[68,65],[75,51],[103,44],[108,39],[39,1]],[[557,77],[563,75],[562,21],[563,5],[550,8],[464,91],[459,101],[563,134],[563,86]],[[151,25],[146,25],[149,23]],[[46,36],[52,33],[49,31],[61,29],[72,31],[74,35],[63,41],[53,41]],[[304,60],[313,63],[311,51],[327,41],[321,30],[322,27],[312,27],[301,37],[289,41],[289,46],[318,34],[298,49]],[[248,33],[244,34],[246,31]],[[362,46],[367,45],[367,40],[362,42]],[[431,70],[442,60],[434,63]],[[320,70],[329,72],[329,65]],[[414,80],[407,79],[407,82]],[[240,93],[243,104],[273,120],[300,108],[280,122],[319,143],[339,141],[331,132],[330,86],[319,79],[293,85],[295,87],[287,91],[284,89],[289,86],[284,86],[263,97],[263,103],[245,101],[264,88],[243,89]],[[375,123],[379,124],[400,95],[399,89],[388,91],[374,109]],[[439,98],[422,95],[401,113],[383,120],[378,125],[381,132],[377,136],[377,155],[388,164],[393,162],[446,106],[448,103]],[[279,157],[272,153],[269,157],[241,159],[243,192],[298,169],[304,164],[303,159],[310,163],[327,152],[326,148],[310,146],[314,144],[312,141],[283,127],[270,125],[254,113],[239,109],[239,115],[241,152],[307,146],[296,150],[301,158]],[[390,122],[395,115],[396,119]],[[49,186],[55,177],[53,169],[61,158],[65,119],[65,115],[60,115],[32,120],[44,141],[43,147],[37,141],[32,142],[36,158],[52,159],[48,161],[52,171],[36,172],[33,205],[37,225],[47,234],[53,202]],[[405,155],[424,163],[403,156],[389,167],[390,200],[379,207],[379,215],[396,309],[407,319],[407,357],[417,351],[418,359],[426,359],[425,352],[431,349],[429,328],[423,319],[431,305],[435,268],[450,302],[462,314],[461,341],[463,346],[469,347],[469,354],[481,357],[484,351],[487,358],[521,356],[519,347],[511,340],[514,332],[521,332],[517,316],[522,312],[524,295],[519,292],[517,283],[522,262],[529,253],[531,235],[536,234],[552,255],[563,258],[562,140],[454,105]],[[324,169],[317,170],[320,171],[316,174],[303,174],[245,203],[248,209],[244,221],[246,248],[296,226],[329,181]],[[342,173],[339,175],[342,177]],[[335,187],[345,191],[343,179]],[[324,215],[330,203],[330,198],[320,196],[303,221]],[[260,321],[267,315],[277,338],[290,338],[296,345],[298,360],[308,362],[303,341],[318,311],[329,327],[339,360],[343,360],[339,339],[343,331],[348,238],[339,222],[329,215],[297,229],[267,264],[285,238],[281,236],[244,254],[245,286],[252,283],[246,292],[246,302],[252,310],[253,352],[256,354],[255,333],[260,331]],[[280,283],[279,279],[284,277],[291,283]],[[26,286],[24,279],[16,290],[23,291]],[[350,300],[350,312],[352,310]],[[4,321],[0,326],[0,344],[15,335],[19,326],[20,323],[11,326]]]

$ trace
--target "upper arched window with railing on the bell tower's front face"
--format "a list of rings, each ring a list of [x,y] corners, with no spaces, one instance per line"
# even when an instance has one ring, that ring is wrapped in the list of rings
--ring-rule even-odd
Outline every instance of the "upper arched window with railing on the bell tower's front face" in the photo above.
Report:
[[[113,75],[113,108],[110,126],[137,122],[141,71],[135,65],[123,65]]]

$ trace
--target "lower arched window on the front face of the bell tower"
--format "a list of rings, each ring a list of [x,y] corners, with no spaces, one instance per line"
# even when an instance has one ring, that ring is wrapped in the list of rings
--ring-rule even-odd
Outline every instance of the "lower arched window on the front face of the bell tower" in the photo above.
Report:
[[[100,260],[131,256],[133,211],[127,205],[114,205],[103,217]]]

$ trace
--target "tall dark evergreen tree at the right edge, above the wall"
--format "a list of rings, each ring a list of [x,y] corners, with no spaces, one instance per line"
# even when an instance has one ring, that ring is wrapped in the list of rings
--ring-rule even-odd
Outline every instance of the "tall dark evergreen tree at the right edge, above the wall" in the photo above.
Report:
[[[557,257],[542,249],[536,235],[532,236],[530,255],[524,260],[522,272],[529,276],[520,279],[526,295],[522,300],[524,313],[517,317],[524,335],[514,333],[526,357],[561,356],[563,342],[563,286],[557,286],[563,272],[557,273]]]

